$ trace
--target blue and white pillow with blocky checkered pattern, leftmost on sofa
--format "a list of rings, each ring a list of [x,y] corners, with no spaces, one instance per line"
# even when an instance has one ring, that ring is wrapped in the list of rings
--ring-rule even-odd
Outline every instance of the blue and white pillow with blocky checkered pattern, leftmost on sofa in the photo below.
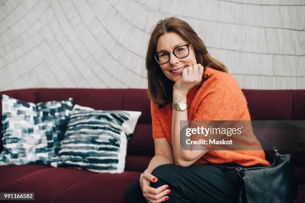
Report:
[[[35,104],[2,95],[0,165],[56,161],[72,107],[72,98]]]

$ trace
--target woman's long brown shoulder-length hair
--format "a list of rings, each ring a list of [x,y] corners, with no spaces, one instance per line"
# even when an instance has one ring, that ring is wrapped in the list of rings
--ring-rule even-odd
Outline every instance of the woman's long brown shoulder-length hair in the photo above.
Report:
[[[154,59],[154,54],[156,54],[156,42],[161,35],[167,32],[177,33],[193,46],[196,61],[204,67],[204,70],[206,67],[211,67],[219,71],[228,72],[228,69],[224,64],[209,55],[204,42],[187,22],[176,17],[168,17],[159,20],[152,30],[146,54],[148,96],[152,102],[156,103],[159,107],[171,102],[172,87],[174,85],[174,82],[166,78],[161,71],[159,64]],[[201,87],[205,80],[207,80],[207,77],[203,75],[198,88]]]

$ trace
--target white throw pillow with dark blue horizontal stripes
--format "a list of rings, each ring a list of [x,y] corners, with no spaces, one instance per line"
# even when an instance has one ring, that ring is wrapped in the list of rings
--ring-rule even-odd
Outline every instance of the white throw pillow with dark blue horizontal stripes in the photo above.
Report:
[[[94,110],[75,105],[70,115],[58,161],[53,167],[73,167],[97,173],[122,173],[127,142],[140,111]]]

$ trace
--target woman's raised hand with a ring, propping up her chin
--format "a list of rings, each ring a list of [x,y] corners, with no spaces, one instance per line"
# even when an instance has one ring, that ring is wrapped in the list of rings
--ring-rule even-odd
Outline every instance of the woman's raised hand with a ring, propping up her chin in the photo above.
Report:
[[[198,85],[202,80],[203,66],[196,64],[188,66],[182,70],[182,77],[175,82],[173,93],[181,96],[186,96],[188,91]]]

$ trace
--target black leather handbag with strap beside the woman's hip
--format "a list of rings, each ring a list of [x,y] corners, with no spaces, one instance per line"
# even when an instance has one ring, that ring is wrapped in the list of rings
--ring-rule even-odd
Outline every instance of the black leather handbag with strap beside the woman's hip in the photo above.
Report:
[[[236,171],[242,187],[238,203],[291,203],[298,196],[295,169],[290,154],[280,154],[253,130],[274,152],[274,162],[270,166],[243,168],[213,164],[224,170]]]

